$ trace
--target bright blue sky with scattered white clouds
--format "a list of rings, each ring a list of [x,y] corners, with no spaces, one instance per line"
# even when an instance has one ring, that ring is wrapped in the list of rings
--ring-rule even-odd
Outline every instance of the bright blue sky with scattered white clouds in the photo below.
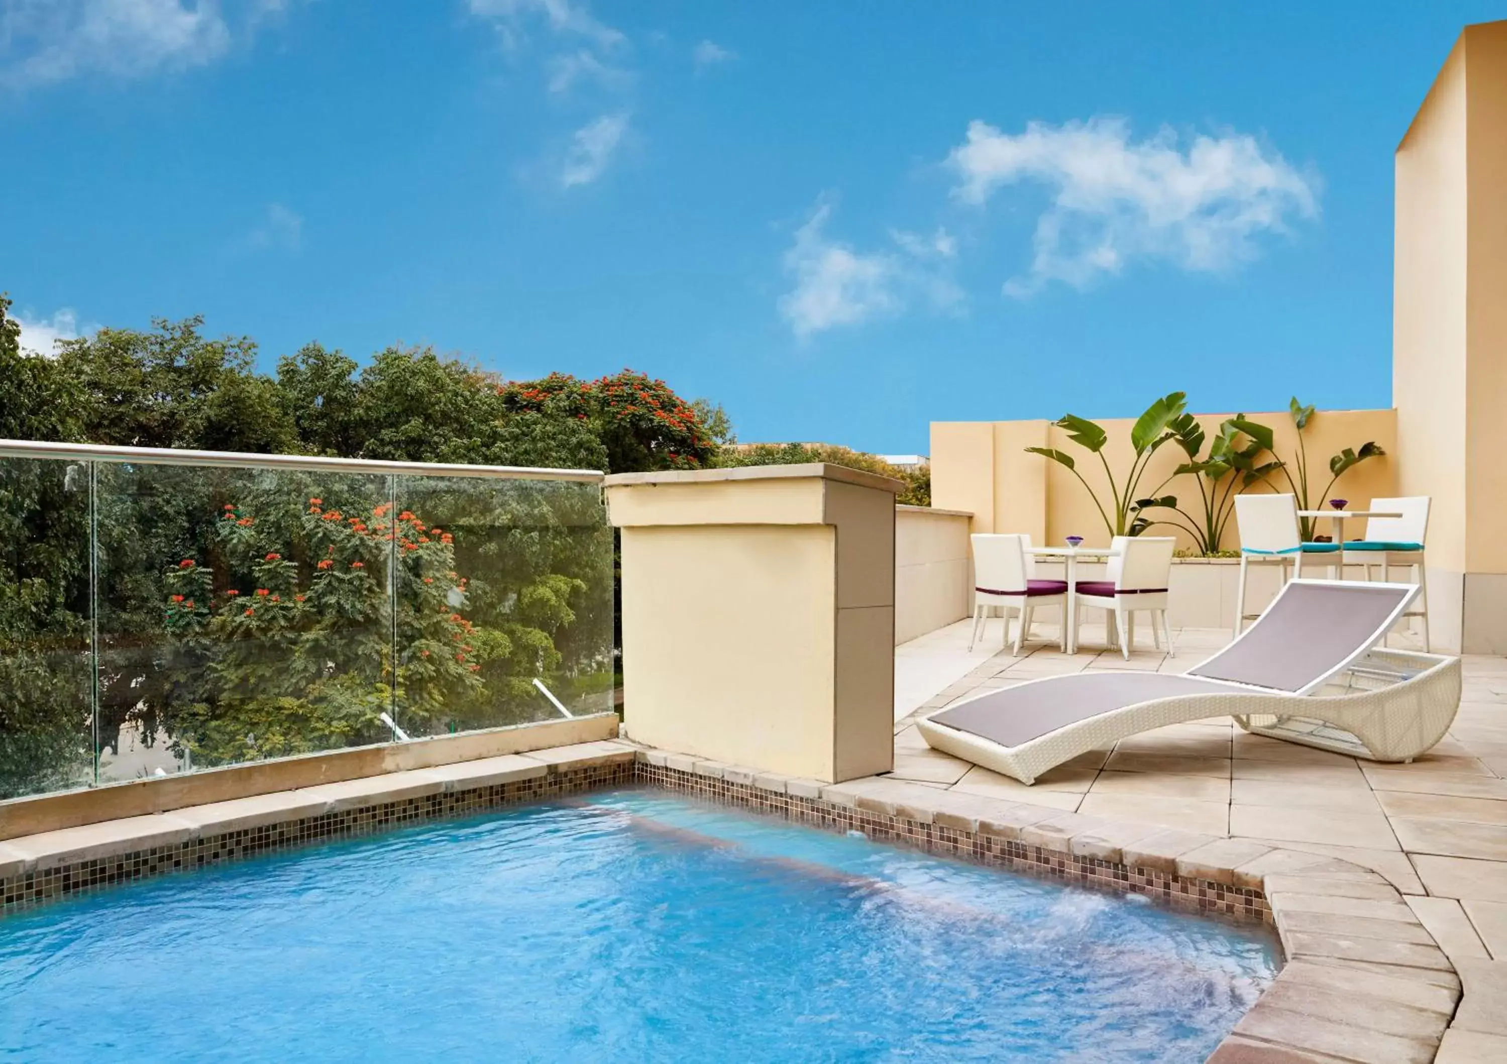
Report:
[[[1391,401],[1450,3],[0,0],[23,342],[633,366],[744,440]]]

